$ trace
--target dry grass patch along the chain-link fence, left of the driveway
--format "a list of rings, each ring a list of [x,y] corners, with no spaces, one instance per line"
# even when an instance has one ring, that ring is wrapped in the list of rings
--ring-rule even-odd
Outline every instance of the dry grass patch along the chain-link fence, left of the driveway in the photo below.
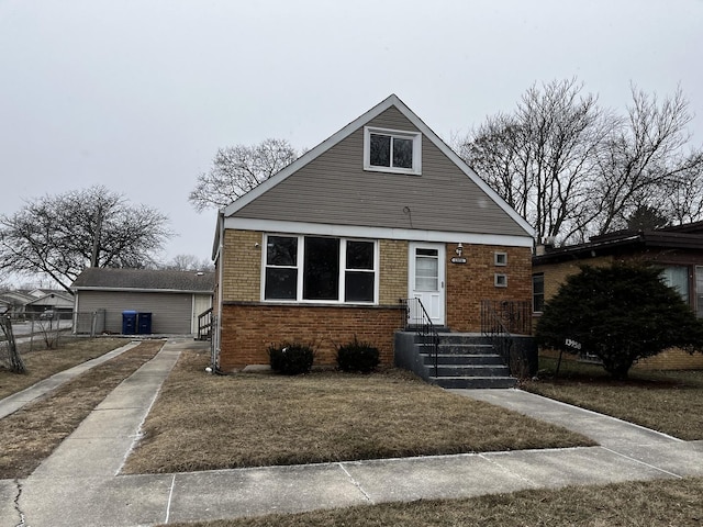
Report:
[[[54,373],[72,368],[130,343],[125,338],[62,338],[57,349],[35,349],[19,345],[26,373],[18,374],[0,367],[0,399],[20,392]]]

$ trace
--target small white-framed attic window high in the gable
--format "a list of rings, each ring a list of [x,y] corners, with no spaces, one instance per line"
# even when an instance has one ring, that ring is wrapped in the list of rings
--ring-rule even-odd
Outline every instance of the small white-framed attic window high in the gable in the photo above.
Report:
[[[422,172],[420,132],[364,128],[364,169],[377,172]]]

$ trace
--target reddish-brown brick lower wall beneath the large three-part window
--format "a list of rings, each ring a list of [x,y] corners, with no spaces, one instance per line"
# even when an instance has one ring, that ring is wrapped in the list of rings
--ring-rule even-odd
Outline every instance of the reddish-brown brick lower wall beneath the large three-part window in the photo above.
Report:
[[[268,365],[268,347],[283,341],[312,343],[314,366],[334,366],[335,345],[349,343],[355,335],[379,349],[382,365],[392,365],[393,334],[402,316],[397,305],[225,303],[220,368],[228,372],[247,365]]]

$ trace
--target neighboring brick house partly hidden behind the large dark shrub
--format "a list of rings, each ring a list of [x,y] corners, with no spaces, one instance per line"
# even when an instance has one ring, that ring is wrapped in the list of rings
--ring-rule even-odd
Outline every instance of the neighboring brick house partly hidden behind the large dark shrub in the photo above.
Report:
[[[594,236],[585,244],[537,247],[533,258],[533,307],[539,316],[567,277],[580,266],[641,261],[661,268],[665,281],[676,288],[699,317],[703,317],[703,222],[649,231],[618,231]],[[667,350],[636,365],[641,369],[703,369],[703,354]]]

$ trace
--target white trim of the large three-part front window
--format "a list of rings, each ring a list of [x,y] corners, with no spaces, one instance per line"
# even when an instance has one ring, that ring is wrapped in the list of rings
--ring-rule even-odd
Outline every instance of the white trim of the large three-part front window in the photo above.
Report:
[[[268,237],[269,236],[282,236],[287,238],[298,238],[298,257],[297,257],[297,266],[276,266],[283,267],[288,269],[295,268],[298,269],[297,276],[297,287],[295,287],[295,300],[286,300],[286,299],[267,299],[266,298],[266,256],[267,256],[267,247],[268,247]],[[308,300],[303,299],[303,274],[304,274],[304,255],[305,255],[305,237],[330,237],[336,238],[339,240],[339,290],[338,290],[338,299],[339,300]],[[349,271],[360,271],[361,269],[347,269],[346,266],[346,255],[347,255],[347,242],[367,242],[373,244],[373,301],[362,302],[346,302],[344,300],[346,295],[346,272]],[[320,236],[315,234],[287,234],[287,233],[270,233],[264,235],[264,243],[261,244],[264,248],[261,250],[261,279],[260,279],[260,299],[261,302],[267,303],[288,303],[288,304],[335,304],[335,305],[378,305],[379,302],[379,268],[380,268],[380,255],[379,255],[379,244],[377,239],[368,239],[368,238],[356,238],[356,237],[341,237],[341,236]]]

